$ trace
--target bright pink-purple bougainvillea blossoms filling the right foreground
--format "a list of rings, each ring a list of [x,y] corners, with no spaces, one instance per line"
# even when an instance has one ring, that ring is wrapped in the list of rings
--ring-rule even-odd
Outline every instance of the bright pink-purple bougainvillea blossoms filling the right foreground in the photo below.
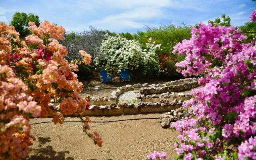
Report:
[[[186,54],[178,71],[200,75],[202,85],[184,104],[190,118],[171,124],[181,132],[177,159],[256,158],[256,46],[243,40],[233,26],[200,23],[190,40],[174,47],[173,53]]]

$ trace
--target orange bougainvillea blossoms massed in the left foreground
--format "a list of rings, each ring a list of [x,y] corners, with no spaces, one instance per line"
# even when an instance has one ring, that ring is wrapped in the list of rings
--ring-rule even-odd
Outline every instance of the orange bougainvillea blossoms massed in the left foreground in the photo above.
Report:
[[[64,59],[68,52],[58,42],[64,39],[64,28],[48,21],[39,27],[34,22],[29,25],[32,34],[21,41],[14,27],[0,22],[0,157],[3,159],[28,155],[34,140],[30,117],[52,115],[54,123],[64,121],[61,112],[49,108],[51,99],[60,102],[64,114],[82,116],[87,105],[78,95],[82,83]],[[84,61],[90,63],[88,54]],[[102,143],[98,134],[93,135],[98,144]]]

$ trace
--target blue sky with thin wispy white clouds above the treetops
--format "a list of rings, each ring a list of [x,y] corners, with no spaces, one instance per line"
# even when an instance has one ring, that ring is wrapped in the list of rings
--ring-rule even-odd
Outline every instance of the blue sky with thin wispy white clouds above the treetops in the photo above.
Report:
[[[239,26],[256,9],[251,0],[0,0],[0,22],[7,24],[15,12],[37,14],[67,31],[89,25],[111,32],[137,32],[160,24],[194,25],[226,14]]]

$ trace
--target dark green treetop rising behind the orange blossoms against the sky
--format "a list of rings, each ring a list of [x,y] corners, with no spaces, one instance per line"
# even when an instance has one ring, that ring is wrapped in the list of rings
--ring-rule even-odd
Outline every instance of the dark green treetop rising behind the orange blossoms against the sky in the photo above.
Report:
[[[35,22],[36,26],[40,25],[38,15],[16,12],[12,16],[10,26],[14,26],[15,30],[20,33],[20,38],[23,39],[30,34],[30,31],[28,30],[28,22],[30,21]]]

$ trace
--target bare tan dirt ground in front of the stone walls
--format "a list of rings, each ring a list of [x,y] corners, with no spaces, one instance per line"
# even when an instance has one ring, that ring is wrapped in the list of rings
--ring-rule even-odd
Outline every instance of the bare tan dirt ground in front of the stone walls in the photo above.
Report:
[[[91,119],[107,121],[159,116],[160,114],[138,114]],[[30,121],[35,123],[51,120],[35,118]],[[92,123],[91,126],[91,131],[96,130],[102,136],[103,147],[95,146],[82,132],[82,124],[78,122],[32,125],[32,134],[36,136],[36,141],[27,160],[145,160],[146,155],[154,150],[167,152],[168,159],[171,160],[176,154],[174,142],[179,132],[163,129],[158,119]]]

